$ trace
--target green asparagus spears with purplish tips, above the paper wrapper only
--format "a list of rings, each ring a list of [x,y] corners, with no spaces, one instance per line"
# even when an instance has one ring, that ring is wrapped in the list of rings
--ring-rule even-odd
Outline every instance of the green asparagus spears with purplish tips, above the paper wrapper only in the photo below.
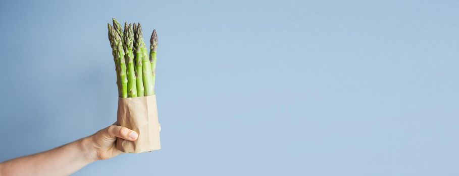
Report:
[[[155,95],[156,52],[158,35],[156,29],[150,37],[150,52],[143,41],[140,23],[121,24],[113,18],[108,24],[109,40],[115,61],[116,83],[120,98],[134,98]]]

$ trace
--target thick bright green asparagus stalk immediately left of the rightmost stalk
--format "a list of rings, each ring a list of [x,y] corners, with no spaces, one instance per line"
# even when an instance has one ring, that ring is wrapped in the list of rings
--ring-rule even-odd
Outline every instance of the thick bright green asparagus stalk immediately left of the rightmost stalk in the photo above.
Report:
[[[151,96],[155,95],[153,89],[153,74],[151,71],[151,63],[148,59],[148,51],[146,49],[145,43],[143,41],[142,26],[140,23],[137,25],[138,40],[140,42],[140,49],[142,51],[142,72],[143,72],[143,86],[145,88],[144,95]],[[137,51],[138,52],[138,51]]]

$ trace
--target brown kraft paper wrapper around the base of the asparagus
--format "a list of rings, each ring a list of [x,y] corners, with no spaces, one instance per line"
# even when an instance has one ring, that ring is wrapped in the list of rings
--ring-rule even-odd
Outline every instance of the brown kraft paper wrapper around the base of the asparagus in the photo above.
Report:
[[[134,130],[137,140],[118,138],[116,148],[128,153],[141,153],[161,148],[160,123],[156,96],[137,98],[118,98],[117,124]]]

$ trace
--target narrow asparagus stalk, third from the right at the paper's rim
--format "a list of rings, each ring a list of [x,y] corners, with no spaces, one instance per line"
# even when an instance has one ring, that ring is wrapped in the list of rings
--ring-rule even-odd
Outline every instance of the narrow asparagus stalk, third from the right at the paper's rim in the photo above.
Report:
[[[135,77],[137,83],[137,95],[139,97],[144,96],[145,88],[143,87],[143,72],[142,72],[142,49],[140,48],[140,33],[138,32],[138,27],[134,23],[133,25],[134,30],[134,52],[135,52]]]

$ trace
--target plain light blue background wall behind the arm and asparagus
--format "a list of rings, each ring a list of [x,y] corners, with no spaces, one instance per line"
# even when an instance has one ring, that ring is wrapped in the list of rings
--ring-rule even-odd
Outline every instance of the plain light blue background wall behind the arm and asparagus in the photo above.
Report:
[[[0,161],[116,121],[116,17],[158,30],[163,148],[75,175],[459,174],[457,1],[0,5]]]

